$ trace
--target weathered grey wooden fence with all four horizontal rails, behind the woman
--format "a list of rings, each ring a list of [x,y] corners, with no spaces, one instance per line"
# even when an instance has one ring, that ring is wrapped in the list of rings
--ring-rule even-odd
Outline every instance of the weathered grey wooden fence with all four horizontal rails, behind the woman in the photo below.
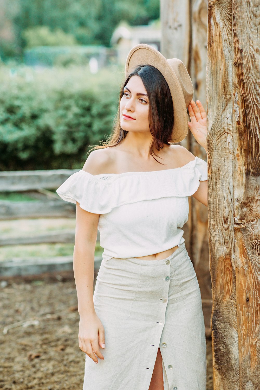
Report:
[[[75,218],[76,205],[64,202],[55,190],[78,169],[35,170],[0,172],[0,193],[22,192],[35,200],[0,200],[0,221],[39,218]],[[97,241],[100,240],[98,231]],[[30,236],[2,236],[0,246],[33,245],[42,243],[74,243],[75,230],[37,232]],[[29,257],[11,259],[0,263],[0,279],[12,276],[35,275],[45,272],[72,270],[72,256],[47,258]],[[95,256],[94,272],[97,273],[102,257]]]

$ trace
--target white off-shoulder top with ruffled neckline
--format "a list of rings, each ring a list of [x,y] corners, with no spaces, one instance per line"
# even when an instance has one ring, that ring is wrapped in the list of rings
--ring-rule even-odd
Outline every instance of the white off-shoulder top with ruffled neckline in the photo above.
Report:
[[[207,180],[207,163],[148,172],[92,175],[80,170],[56,190],[61,199],[100,214],[103,259],[127,259],[163,252],[185,240],[188,197]]]

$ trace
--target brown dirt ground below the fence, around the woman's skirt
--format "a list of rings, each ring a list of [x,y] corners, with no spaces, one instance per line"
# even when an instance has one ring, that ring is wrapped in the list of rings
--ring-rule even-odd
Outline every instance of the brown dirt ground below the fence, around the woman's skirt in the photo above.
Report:
[[[0,281],[0,313],[0,389],[83,388],[85,355],[78,345],[73,274]],[[211,340],[207,390],[213,390]]]

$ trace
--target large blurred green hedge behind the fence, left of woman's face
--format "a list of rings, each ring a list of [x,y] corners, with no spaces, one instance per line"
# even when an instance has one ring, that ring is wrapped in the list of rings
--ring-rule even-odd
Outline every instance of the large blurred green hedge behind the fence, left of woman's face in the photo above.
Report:
[[[123,71],[121,72],[123,76]],[[118,69],[0,68],[0,170],[81,168],[111,133]]]

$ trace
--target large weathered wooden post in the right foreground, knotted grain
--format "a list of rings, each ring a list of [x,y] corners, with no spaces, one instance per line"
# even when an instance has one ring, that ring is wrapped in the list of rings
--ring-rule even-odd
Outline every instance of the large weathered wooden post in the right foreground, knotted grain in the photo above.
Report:
[[[209,0],[213,381],[260,389],[260,2]]]

